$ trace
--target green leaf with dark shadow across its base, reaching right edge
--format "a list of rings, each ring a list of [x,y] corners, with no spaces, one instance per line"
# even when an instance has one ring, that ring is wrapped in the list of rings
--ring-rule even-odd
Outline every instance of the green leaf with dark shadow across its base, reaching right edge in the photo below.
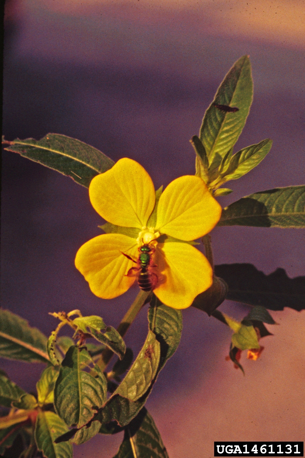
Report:
[[[218,226],[305,227],[305,185],[242,197],[222,211]]]

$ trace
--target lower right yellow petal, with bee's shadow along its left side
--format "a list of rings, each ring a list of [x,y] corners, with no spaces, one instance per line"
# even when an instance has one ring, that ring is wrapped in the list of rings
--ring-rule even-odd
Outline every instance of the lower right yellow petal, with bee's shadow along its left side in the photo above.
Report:
[[[154,293],[163,304],[185,309],[199,293],[212,285],[212,267],[192,245],[181,242],[162,245],[158,245],[154,261],[164,278],[161,276],[163,283],[154,289]]]

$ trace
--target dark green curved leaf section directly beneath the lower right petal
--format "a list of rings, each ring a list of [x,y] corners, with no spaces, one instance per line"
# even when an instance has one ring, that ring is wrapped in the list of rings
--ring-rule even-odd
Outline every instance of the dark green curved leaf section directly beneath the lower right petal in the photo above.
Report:
[[[182,333],[182,312],[162,304],[155,294],[150,305],[148,310],[150,329],[161,345],[160,371],[179,345]]]

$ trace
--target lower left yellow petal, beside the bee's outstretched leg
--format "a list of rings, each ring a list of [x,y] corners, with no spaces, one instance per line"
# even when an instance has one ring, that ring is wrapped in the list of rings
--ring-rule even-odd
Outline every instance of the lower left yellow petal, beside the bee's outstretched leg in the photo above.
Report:
[[[123,234],[103,234],[82,245],[76,253],[75,267],[84,275],[93,294],[112,299],[127,291],[135,277],[125,277],[136,264],[139,252],[136,241]]]

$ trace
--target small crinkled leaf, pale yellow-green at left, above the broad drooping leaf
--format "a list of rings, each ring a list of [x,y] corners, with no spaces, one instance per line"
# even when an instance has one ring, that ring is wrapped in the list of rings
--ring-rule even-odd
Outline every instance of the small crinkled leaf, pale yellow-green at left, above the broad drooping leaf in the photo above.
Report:
[[[73,324],[84,333],[91,334],[96,340],[107,345],[120,359],[123,358],[126,350],[123,338],[114,327],[106,326],[100,316],[92,315],[75,318]]]

